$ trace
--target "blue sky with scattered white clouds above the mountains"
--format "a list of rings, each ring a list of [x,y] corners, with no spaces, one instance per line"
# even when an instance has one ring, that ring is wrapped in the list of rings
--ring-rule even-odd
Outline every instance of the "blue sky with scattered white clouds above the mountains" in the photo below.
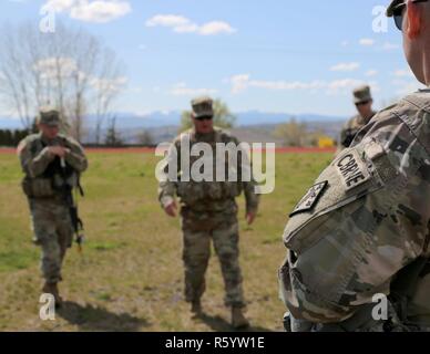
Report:
[[[392,21],[372,30],[372,10],[388,0],[0,1],[1,23],[38,21],[52,1],[63,22],[115,50],[127,76],[121,112],[184,110],[208,93],[234,112],[344,116],[361,82],[377,108],[419,87]]]

